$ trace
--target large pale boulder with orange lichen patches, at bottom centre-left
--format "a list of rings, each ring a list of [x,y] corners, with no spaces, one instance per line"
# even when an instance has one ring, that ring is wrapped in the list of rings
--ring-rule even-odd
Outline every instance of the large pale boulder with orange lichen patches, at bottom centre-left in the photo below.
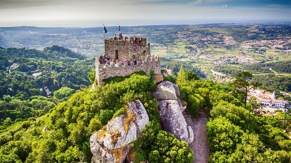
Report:
[[[140,137],[142,129],[149,122],[145,107],[139,100],[128,103],[125,114],[114,118],[90,137],[92,160],[107,163],[122,163],[133,146],[131,142]]]

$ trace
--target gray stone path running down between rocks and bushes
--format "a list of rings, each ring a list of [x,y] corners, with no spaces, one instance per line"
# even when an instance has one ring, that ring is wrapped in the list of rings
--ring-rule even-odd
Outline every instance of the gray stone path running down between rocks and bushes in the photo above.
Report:
[[[206,123],[207,121],[209,121],[209,119],[207,118],[205,110],[199,109],[197,118],[189,116],[186,110],[183,112],[183,115],[186,123],[188,125],[191,125],[194,132],[194,141],[189,144],[189,147],[195,155],[193,163],[208,163],[210,150],[208,139],[206,136]]]

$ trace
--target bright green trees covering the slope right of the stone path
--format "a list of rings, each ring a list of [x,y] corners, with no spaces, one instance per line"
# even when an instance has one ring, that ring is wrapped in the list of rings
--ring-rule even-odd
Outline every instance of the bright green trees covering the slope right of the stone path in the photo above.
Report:
[[[248,73],[237,76],[234,87],[203,80],[184,80],[179,84],[185,93],[188,111],[196,115],[199,107],[203,107],[211,116],[206,125],[212,152],[209,162],[289,163],[291,115],[281,113],[271,118],[262,117],[256,113],[260,104],[252,101],[243,104],[245,93],[238,88],[239,85],[250,85],[243,77]],[[281,118],[286,121],[280,121]]]

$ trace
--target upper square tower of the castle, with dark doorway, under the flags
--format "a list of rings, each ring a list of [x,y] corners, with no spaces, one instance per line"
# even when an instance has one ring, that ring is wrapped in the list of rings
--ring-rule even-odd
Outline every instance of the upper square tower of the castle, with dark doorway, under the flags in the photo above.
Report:
[[[132,38],[132,37],[131,37]],[[117,38],[118,39],[118,38]],[[140,46],[139,49],[133,50],[130,40],[125,37],[125,40],[114,40],[113,38],[105,39],[104,46],[105,46],[105,54],[104,58],[107,55],[110,60],[116,60],[118,58],[119,61],[123,59],[133,61],[141,60],[141,56],[150,56],[150,44],[146,44],[146,38],[142,38],[141,42],[139,42],[139,37],[136,37],[137,45]],[[115,55],[115,50],[118,50],[118,56]]]

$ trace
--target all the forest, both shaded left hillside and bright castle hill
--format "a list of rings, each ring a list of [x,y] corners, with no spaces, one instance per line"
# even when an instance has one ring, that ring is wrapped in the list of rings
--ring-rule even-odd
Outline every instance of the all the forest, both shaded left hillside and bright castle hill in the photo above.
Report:
[[[0,163],[91,162],[90,136],[124,114],[126,104],[135,99],[142,102],[149,115],[146,129],[133,142],[135,162],[191,163],[195,157],[186,142],[162,130],[157,99],[151,97],[156,87],[153,76],[136,72],[105,81],[105,86],[89,91],[94,71],[88,72],[94,58],[84,59],[59,46],[43,51],[1,48],[0,54]],[[19,66],[12,69],[13,63]],[[184,67],[180,62],[162,64],[170,69],[181,66],[174,69],[179,72],[177,78],[164,80],[179,86],[179,98],[187,102],[187,111],[195,117],[203,108],[209,114],[209,162],[290,162],[291,114],[262,117],[256,113],[260,105],[244,103],[244,92],[236,89],[237,85],[199,79],[202,74],[190,63]],[[42,75],[33,78],[35,72]],[[246,85],[260,82],[265,89],[275,89],[274,85],[287,91],[291,88],[288,77],[269,75],[274,84],[262,76],[250,81],[236,78]],[[45,87],[51,91],[49,96]],[[45,126],[47,130],[43,130]]]

